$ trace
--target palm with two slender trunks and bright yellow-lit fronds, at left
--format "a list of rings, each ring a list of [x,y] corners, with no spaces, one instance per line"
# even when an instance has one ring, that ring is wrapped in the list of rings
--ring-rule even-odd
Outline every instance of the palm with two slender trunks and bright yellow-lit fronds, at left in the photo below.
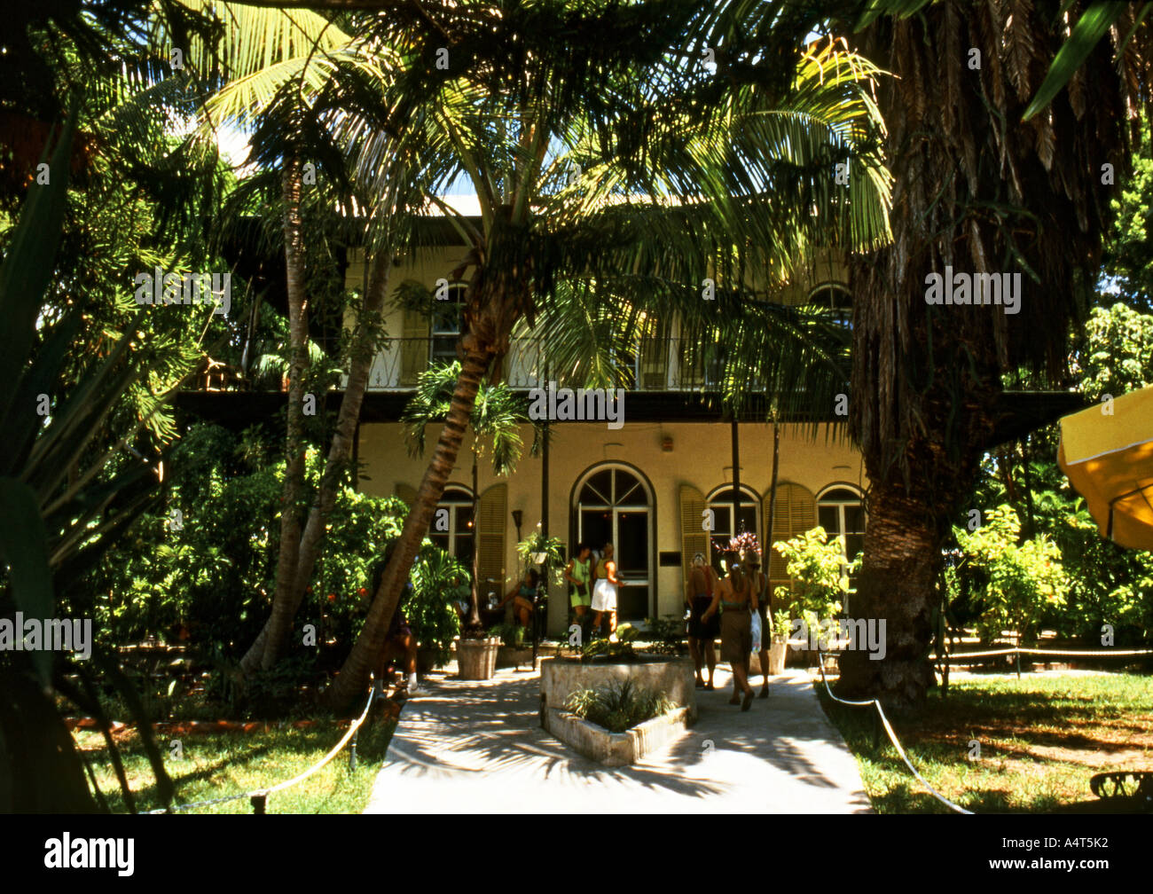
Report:
[[[284,511],[276,588],[267,624],[241,661],[251,673],[270,668],[279,659],[292,622],[304,599],[322,534],[347,474],[353,435],[379,336],[379,314],[392,266],[397,209],[402,202],[395,188],[371,197],[361,194],[370,218],[368,235],[370,273],[349,351],[348,381],[325,457],[319,487],[311,496],[304,484],[304,378],[309,367],[308,310],[304,263],[306,210],[327,204],[351,205],[355,186],[348,182],[342,150],[331,138],[331,120],[318,97],[337,72],[338,62],[364,63],[364,45],[333,22],[308,10],[257,9],[208,0],[180,0],[188,10],[206,18],[216,40],[194,31],[187,40],[187,67],[194,73],[214,73],[224,84],[204,97],[194,140],[201,143],[220,127],[253,130],[253,155],[265,170],[280,171],[280,206],[287,271],[289,343],[287,356],[288,401]],[[153,42],[179,33],[157,18]],[[379,66],[379,61],[376,62]],[[321,170],[317,185],[306,187],[304,170]],[[306,191],[310,195],[306,197]],[[326,211],[331,213],[331,211]],[[303,506],[308,506],[307,513]]]

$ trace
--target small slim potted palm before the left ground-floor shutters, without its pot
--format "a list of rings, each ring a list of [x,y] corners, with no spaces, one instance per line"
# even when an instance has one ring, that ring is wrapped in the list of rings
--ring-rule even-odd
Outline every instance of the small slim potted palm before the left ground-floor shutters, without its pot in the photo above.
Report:
[[[452,407],[452,393],[460,375],[460,363],[444,363],[421,373],[416,380],[416,393],[409,399],[401,421],[407,425],[408,441],[415,456],[424,454],[425,428],[444,421]],[[465,636],[481,632],[480,600],[480,549],[477,544],[476,503],[480,495],[477,471],[485,441],[492,450],[492,472],[511,475],[521,457],[523,442],[519,428],[528,425],[523,401],[506,384],[481,385],[476,401],[469,414],[473,430],[473,589],[469,596],[468,617],[465,619]],[[534,423],[532,452],[535,454],[544,437],[543,427]]]

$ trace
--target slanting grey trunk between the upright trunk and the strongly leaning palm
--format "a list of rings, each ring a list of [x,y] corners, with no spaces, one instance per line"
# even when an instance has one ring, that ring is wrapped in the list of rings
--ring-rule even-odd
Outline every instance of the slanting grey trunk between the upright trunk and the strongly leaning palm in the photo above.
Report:
[[[332,442],[329,445],[329,454],[325,459],[324,471],[321,474],[321,486],[316,499],[308,513],[308,521],[300,539],[300,549],[296,558],[296,572],[291,591],[277,591],[273,598],[273,611],[276,611],[277,599],[282,599],[287,603],[286,613],[295,617],[300,610],[300,604],[304,599],[306,587],[312,577],[317,557],[321,551],[321,536],[324,525],[332,513],[332,508],[337,501],[337,489],[347,469],[349,457],[352,456],[353,443],[356,433],[356,423],[360,420],[361,406],[364,403],[364,392],[368,390],[368,377],[372,369],[372,330],[368,322],[384,307],[384,299],[389,291],[389,273],[392,269],[392,251],[382,251],[372,263],[369,275],[368,291],[364,293],[364,302],[361,308],[361,324],[356,329],[352,347],[352,362],[348,368],[348,384],[345,388],[344,399],[340,401],[340,411],[337,415],[336,430],[332,433]],[[272,632],[271,618],[261,630],[259,636],[253,643],[248,653],[241,661],[241,671],[251,673],[258,666],[272,667],[279,658],[284,647],[280,640],[274,648],[269,644]]]

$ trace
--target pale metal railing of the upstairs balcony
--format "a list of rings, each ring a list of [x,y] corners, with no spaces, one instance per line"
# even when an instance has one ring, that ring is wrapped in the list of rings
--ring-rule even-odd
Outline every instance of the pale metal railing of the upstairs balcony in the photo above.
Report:
[[[369,391],[405,391],[416,386],[416,377],[435,361],[434,348],[443,341],[431,338],[390,338],[369,371]],[[645,339],[635,354],[623,356],[625,386],[636,391],[702,391],[719,385],[724,367],[723,346],[702,345],[684,338]],[[578,386],[551,368],[543,339],[514,338],[504,359],[504,381],[510,388],[544,388],[550,381]],[[345,382],[341,382],[344,386]]]

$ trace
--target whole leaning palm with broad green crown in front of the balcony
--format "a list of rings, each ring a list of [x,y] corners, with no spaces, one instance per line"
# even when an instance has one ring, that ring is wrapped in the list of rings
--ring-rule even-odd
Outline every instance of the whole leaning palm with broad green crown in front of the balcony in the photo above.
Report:
[[[387,18],[374,22],[382,42],[399,28],[400,44],[413,47],[408,74],[394,85],[361,88],[344,105],[349,135],[378,132],[405,106],[402,129],[360,141],[357,176],[379,183],[395,176],[385,148],[407,172],[419,172],[430,187],[428,201],[470,247],[452,277],[472,273],[445,425],[366,625],[333,684],[338,706],[368,678],[481,383],[518,324],[540,322],[550,333],[570,333],[572,345],[610,314],[615,331],[635,338],[647,310],[658,310],[677,313],[689,336],[724,330],[763,346],[777,335],[796,346],[802,321],[766,301],[763,287],[749,290],[746,275],[755,268],[776,284],[814,245],[871,245],[886,235],[886,175],[866,138],[876,126],[867,83],[877,70],[839,47],[798,52],[811,23],[773,15],[738,22],[729,7],[701,10],[694,3],[605,3],[579,12],[497,6],[498,32],[511,36],[504,53],[475,67],[450,61],[439,75],[429,62],[435,44]],[[491,44],[491,22],[468,18],[474,7],[488,8],[455,7],[454,33],[468,46]],[[625,32],[634,37],[624,46],[603,39]],[[715,70],[704,65],[707,47],[721,48]],[[413,103],[414,90],[427,102]],[[371,95],[391,99],[352,111]],[[835,185],[832,166],[850,155],[859,175],[845,190]],[[480,201],[480,226],[437,198],[460,175]],[[701,300],[707,279],[716,285],[715,305]],[[589,311],[575,331],[581,317],[568,313],[573,308]],[[548,343],[551,350],[551,337]],[[761,386],[799,385],[800,366],[779,358],[813,352],[769,347]],[[568,360],[580,366],[572,354]],[[821,383],[837,381],[828,367],[816,378],[806,399],[821,397]]]

